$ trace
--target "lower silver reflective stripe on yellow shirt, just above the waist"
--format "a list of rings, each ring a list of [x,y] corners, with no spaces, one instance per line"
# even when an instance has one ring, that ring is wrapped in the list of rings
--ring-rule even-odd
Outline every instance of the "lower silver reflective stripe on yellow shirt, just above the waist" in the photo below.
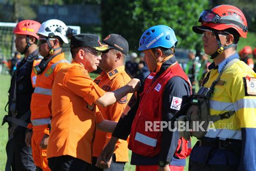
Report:
[[[206,137],[209,138],[220,138],[221,140],[225,139],[236,139],[242,140],[242,133],[241,131],[235,131],[232,129],[209,129],[205,134]]]

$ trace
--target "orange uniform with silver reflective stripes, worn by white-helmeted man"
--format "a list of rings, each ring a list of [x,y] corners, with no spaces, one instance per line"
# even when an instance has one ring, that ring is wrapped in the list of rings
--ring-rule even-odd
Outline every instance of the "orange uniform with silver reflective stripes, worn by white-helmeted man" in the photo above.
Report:
[[[33,134],[31,139],[32,156],[35,165],[43,170],[50,170],[46,159],[46,149],[40,147],[45,129],[48,128],[51,118],[51,94],[53,80],[57,72],[69,61],[64,53],[58,54],[47,65],[46,69],[37,75],[35,91],[31,99],[31,122]]]

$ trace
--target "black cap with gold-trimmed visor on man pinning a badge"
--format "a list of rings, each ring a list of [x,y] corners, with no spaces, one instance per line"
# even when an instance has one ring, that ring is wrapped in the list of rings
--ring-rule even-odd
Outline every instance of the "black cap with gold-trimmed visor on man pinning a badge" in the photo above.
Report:
[[[100,52],[109,50],[109,47],[101,46],[99,43],[99,36],[92,34],[79,34],[71,37],[70,48],[76,47],[91,47]]]

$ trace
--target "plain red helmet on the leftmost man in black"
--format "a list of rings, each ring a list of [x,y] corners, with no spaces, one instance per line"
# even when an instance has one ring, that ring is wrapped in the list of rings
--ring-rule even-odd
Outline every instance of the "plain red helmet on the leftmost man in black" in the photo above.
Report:
[[[40,26],[41,24],[35,20],[22,20],[16,25],[14,33],[19,35],[30,35],[38,39],[39,36],[37,35],[37,32]]]

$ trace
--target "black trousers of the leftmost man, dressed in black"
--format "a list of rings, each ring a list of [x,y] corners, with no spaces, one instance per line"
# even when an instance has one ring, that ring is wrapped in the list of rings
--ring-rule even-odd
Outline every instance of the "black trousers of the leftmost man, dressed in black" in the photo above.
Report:
[[[12,156],[11,168],[12,171],[23,170],[36,170],[35,163],[32,158],[32,148],[26,146],[25,143],[26,128],[17,128],[17,132],[14,133],[14,138],[8,141],[6,145],[6,153],[8,156]],[[8,153],[12,153],[10,155]]]

